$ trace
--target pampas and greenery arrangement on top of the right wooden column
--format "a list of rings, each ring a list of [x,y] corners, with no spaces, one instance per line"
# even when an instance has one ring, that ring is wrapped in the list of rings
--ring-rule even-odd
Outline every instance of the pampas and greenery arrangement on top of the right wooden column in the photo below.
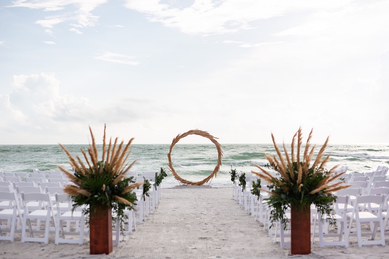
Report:
[[[297,150],[295,154],[294,143],[296,136]],[[268,160],[270,167],[280,174],[279,177],[275,177],[261,166],[254,164],[261,170],[261,173],[254,171],[252,171],[252,173],[269,183],[268,187],[270,191],[261,188],[259,189],[271,194],[271,196],[265,200],[268,200],[268,204],[273,208],[270,215],[270,220],[273,222],[280,220],[283,223],[286,223],[287,220],[284,217],[286,210],[294,207],[302,211],[307,205],[309,206],[311,204],[316,205],[317,210],[321,212],[321,215],[328,215],[330,224],[334,224],[335,222],[332,213],[333,209],[331,207],[331,203],[336,201],[336,196],[333,193],[340,189],[345,189],[350,185],[344,185],[344,181],[332,182],[343,175],[343,173],[340,173],[333,176],[337,166],[334,166],[330,170],[324,169],[324,166],[330,159],[330,154],[323,159],[324,150],[328,144],[328,138],[319,150],[314,162],[311,164],[315,150],[315,145],[310,150],[311,136],[312,131],[308,136],[305,149],[302,149],[301,128],[299,128],[293,136],[290,155],[286,150],[285,144],[283,145],[285,152],[284,158],[275,143],[272,134],[273,144],[275,151],[279,156],[279,160],[277,160],[275,156],[272,157],[268,154],[265,154],[265,157]],[[302,157],[300,151],[303,151]]]

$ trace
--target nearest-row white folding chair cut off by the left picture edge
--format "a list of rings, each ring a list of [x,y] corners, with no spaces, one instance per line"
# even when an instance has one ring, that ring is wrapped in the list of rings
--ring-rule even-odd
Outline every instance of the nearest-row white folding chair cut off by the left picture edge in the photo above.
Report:
[[[0,197],[4,201],[9,202],[9,208],[0,211],[1,219],[7,219],[7,224],[0,224],[0,240],[9,240],[14,242],[15,229],[17,224],[17,218],[21,219],[23,210],[19,208],[18,198],[14,192],[0,192]],[[3,236],[3,232],[9,231],[9,236]]]

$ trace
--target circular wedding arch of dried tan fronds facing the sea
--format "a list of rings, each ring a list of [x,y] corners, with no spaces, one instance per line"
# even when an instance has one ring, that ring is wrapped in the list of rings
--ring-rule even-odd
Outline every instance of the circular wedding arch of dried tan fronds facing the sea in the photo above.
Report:
[[[214,171],[209,175],[209,177],[207,177],[204,180],[199,181],[199,182],[192,182],[192,181],[188,181],[186,179],[181,178],[175,172],[175,170],[173,168],[173,165],[172,165],[172,156],[171,156],[171,154],[172,154],[172,149],[173,149],[174,145],[177,144],[177,142],[179,142],[179,140],[181,138],[184,138],[184,137],[186,137],[188,135],[198,135],[198,136],[201,136],[201,137],[208,138],[210,141],[212,141],[213,144],[216,145],[216,149],[217,149],[217,165],[216,165]],[[219,144],[219,142],[216,141],[214,136],[210,135],[207,131],[202,131],[200,129],[192,129],[192,130],[189,130],[189,131],[187,131],[185,133],[182,133],[181,135],[179,134],[179,135],[177,135],[177,137],[173,138],[172,145],[170,145],[169,154],[168,154],[169,170],[170,170],[170,172],[172,172],[172,174],[174,176],[174,179],[176,179],[177,181],[179,181],[182,184],[202,186],[203,184],[208,182],[213,177],[216,177],[217,172],[219,172],[219,170],[220,170],[222,156],[223,156],[223,151],[221,151],[221,145]]]

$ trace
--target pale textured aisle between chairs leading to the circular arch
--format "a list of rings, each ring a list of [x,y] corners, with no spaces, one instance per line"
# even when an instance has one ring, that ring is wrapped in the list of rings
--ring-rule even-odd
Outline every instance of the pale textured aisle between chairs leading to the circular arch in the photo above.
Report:
[[[231,199],[232,187],[177,186],[114,258],[285,258],[288,250]]]

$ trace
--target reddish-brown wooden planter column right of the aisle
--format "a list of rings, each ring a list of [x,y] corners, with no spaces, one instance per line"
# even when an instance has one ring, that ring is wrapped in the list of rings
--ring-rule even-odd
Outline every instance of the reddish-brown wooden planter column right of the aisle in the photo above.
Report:
[[[311,253],[310,205],[303,210],[291,208],[291,254]]]

